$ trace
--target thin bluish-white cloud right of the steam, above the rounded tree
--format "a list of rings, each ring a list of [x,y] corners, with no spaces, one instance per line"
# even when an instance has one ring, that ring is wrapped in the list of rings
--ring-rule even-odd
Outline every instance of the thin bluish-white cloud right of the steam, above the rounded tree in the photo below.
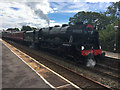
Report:
[[[54,13],[77,13],[80,11],[104,12],[110,3],[106,2],[51,2]],[[54,10],[54,9],[53,9]]]

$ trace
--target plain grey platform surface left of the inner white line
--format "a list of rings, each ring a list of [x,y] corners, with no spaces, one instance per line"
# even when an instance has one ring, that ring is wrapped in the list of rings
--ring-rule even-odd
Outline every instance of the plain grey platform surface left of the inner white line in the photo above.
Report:
[[[50,88],[2,44],[2,88]]]

